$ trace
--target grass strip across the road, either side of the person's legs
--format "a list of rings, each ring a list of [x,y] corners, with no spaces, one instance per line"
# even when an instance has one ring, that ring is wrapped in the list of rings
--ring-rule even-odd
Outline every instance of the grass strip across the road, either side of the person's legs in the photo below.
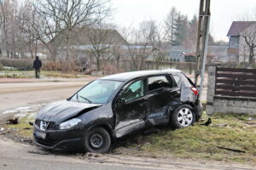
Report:
[[[61,71],[41,71],[41,77],[79,78],[88,77],[80,73],[62,73]],[[0,78],[33,78],[35,71],[0,71]]]

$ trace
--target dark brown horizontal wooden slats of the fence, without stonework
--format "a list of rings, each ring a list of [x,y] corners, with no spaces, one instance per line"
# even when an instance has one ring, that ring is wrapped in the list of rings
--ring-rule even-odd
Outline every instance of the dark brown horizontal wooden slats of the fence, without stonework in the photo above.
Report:
[[[256,69],[217,67],[215,96],[256,98]]]

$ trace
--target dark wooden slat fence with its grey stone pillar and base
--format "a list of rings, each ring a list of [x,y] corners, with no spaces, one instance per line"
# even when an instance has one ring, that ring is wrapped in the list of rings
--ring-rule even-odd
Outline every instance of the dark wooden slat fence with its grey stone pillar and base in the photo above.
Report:
[[[256,115],[256,69],[210,66],[207,83],[207,114]]]

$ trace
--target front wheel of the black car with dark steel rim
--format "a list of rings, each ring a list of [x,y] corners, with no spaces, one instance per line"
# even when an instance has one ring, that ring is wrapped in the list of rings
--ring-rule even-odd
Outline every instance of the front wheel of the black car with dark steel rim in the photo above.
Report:
[[[85,152],[106,153],[110,146],[111,138],[105,128],[95,127],[84,135]]]

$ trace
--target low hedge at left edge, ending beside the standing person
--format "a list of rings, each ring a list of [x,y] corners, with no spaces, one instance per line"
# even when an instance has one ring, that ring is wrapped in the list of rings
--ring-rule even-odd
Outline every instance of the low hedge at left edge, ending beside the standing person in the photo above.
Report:
[[[0,59],[4,66],[15,67],[19,71],[30,71],[33,67],[33,59]]]

